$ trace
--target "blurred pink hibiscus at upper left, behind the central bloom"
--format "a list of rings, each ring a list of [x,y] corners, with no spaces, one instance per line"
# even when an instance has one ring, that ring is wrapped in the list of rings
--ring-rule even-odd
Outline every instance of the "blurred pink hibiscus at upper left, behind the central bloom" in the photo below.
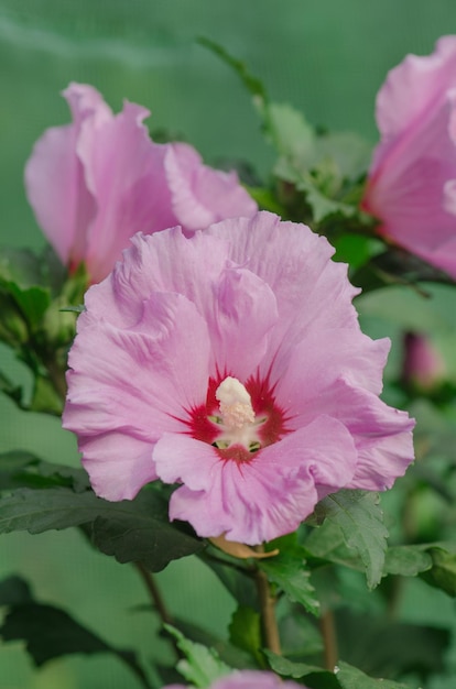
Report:
[[[235,172],[207,167],[185,143],[151,141],[145,108],[126,102],[113,116],[83,84],[70,84],[64,96],[73,123],[48,129],[36,142],[25,188],[37,222],[70,269],[85,261],[99,282],[135,232],[175,225],[193,232],[257,211]]]

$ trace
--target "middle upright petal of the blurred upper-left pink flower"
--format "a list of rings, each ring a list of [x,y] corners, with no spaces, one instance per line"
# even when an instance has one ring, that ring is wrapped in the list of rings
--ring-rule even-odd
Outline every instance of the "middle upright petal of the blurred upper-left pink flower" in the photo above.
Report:
[[[142,124],[148,116],[145,108],[126,102],[95,139],[82,135],[79,140],[87,185],[98,204],[88,228],[86,255],[94,281],[112,269],[135,232],[152,233],[176,225],[163,174],[165,150],[149,139]]]

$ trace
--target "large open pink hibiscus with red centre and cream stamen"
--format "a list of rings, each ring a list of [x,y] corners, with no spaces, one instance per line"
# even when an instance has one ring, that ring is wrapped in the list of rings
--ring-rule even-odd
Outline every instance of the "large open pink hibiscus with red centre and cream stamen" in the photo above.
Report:
[[[404,473],[413,422],[378,397],[389,341],[360,331],[326,239],[260,212],[132,244],[69,352],[64,426],[97,494],[181,483],[172,520],[253,545]]]

